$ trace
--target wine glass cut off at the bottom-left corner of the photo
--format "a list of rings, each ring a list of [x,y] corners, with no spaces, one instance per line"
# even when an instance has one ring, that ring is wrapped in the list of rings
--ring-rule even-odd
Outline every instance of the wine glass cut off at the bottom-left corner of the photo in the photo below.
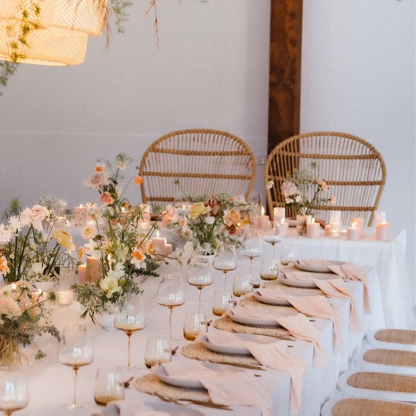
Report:
[[[0,368],[0,410],[10,416],[29,402],[26,377],[19,366]]]

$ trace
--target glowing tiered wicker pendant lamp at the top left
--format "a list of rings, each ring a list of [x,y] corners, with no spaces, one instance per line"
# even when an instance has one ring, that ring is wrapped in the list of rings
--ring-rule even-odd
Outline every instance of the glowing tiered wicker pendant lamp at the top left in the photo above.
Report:
[[[77,65],[106,17],[106,0],[0,0],[0,59]],[[22,35],[24,42],[17,42]]]

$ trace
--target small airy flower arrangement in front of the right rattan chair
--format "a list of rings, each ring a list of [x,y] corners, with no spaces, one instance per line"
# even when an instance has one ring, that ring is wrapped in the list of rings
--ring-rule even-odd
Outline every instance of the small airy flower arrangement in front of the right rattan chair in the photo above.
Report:
[[[294,169],[292,173],[288,172],[286,181],[280,186],[286,207],[293,208],[298,216],[310,216],[317,206],[325,205],[334,198],[322,197],[322,193],[329,188],[318,176],[317,163],[312,162],[310,169]],[[300,233],[306,233],[306,220],[302,223]]]

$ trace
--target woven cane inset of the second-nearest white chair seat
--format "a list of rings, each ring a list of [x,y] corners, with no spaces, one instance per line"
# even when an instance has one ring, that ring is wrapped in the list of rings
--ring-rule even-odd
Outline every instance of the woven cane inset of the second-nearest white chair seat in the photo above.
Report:
[[[347,384],[355,388],[416,394],[416,377],[402,374],[358,371],[348,377]]]

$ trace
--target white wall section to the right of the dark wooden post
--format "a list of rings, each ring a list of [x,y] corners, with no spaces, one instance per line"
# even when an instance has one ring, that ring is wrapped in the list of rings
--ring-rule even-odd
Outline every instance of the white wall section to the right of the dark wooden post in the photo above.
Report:
[[[301,132],[350,133],[381,153],[379,209],[406,228],[415,288],[415,1],[304,1],[302,42]]]

